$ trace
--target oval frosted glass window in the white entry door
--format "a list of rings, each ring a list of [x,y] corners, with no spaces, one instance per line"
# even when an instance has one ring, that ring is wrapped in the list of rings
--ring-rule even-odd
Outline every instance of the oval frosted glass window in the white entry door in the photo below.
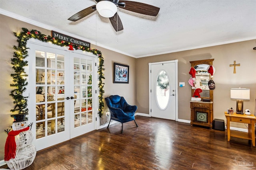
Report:
[[[164,70],[160,71],[156,80],[156,103],[159,109],[164,110],[168,106],[170,98],[169,79]]]

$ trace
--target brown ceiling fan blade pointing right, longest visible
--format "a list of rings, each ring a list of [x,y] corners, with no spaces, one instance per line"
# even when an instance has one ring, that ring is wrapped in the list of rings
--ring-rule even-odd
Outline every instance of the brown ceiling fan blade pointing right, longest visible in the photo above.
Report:
[[[124,2],[125,7],[119,6],[119,8],[123,8],[128,11],[136,12],[139,14],[144,14],[148,16],[157,16],[160,8],[148,4],[144,4],[141,2],[134,2],[134,1],[126,1],[120,0],[119,2]]]

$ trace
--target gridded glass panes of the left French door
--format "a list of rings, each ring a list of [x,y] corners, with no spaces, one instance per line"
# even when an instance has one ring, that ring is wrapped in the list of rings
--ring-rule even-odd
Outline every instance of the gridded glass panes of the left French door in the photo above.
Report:
[[[64,55],[36,51],[35,71],[36,139],[39,139],[65,130]]]

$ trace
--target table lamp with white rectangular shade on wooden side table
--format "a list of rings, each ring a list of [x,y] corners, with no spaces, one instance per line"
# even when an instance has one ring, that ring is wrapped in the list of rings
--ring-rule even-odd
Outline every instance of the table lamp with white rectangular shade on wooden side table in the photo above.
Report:
[[[250,89],[246,88],[231,88],[230,98],[236,99],[236,113],[244,114],[243,103],[244,100],[250,100]]]

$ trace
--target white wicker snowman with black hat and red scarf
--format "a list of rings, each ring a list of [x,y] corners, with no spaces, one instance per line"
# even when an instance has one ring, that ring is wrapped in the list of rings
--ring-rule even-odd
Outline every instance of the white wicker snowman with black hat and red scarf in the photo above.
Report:
[[[36,157],[36,147],[31,143],[33,135],[26,114],[12,115],[12,131],[6,131],[4,160],[10,169],[19,170],[32,164]]]

